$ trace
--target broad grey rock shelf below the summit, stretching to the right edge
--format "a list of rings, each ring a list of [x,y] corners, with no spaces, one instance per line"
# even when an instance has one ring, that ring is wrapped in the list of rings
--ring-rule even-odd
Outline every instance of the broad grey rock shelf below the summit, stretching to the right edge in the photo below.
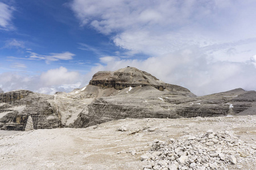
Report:
[[[246,96],[251,96],[251,99]],[[129,87],[113,96],[93,101],[86,111],[79,114],[73,125],[84,128],[123,118],[236,115],[252,107],[251,101],[255,100],[253,96],[251,92],[244,90],[194,97],[190,92],[159,91],[150,86]]]

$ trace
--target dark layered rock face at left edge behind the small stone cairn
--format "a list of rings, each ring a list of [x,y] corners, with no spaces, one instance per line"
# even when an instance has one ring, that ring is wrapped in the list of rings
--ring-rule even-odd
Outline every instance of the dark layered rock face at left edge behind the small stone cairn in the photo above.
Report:
[[[53,96],[36,94],[27,90],[0,94],[0,128],[2,130],[24,130],[28,117],[34,129],[59,127],[56,109],[48,102]]]

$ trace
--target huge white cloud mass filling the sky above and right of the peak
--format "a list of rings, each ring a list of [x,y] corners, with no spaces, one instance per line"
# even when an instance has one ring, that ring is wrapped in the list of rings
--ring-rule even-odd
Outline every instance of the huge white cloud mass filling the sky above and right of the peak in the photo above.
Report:
[[[256,90],[255,1],[73,0],[70,6],[82,27],[111,37],[130,56],[100,56],[92,72],[134,66],[196,95]]]

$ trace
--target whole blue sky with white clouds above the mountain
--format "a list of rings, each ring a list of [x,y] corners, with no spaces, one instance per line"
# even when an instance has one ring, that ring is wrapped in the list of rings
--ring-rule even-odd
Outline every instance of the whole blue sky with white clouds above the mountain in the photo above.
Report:
[[[0,88],[43,94],[126,66],[194,94],[256,90],[254,0],[0,0]]]

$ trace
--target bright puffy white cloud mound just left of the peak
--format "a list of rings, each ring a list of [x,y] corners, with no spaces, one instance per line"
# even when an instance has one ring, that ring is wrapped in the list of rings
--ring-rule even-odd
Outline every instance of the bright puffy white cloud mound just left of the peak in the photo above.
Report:
[[[72,84],[79,79],[79,73],[76,71],[68,71],[65,67],[59,69],[48,70],[42,73],[40,81],[46,86]]]

